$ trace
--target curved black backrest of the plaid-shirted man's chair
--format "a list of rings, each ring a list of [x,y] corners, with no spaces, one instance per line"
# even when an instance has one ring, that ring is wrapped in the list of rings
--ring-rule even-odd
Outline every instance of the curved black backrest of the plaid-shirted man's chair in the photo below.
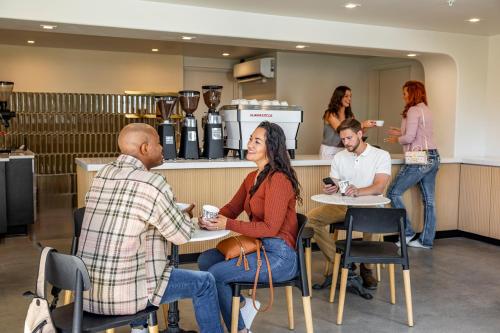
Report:
[[[77,280],[81,279],[82,291],[90,288],[90,277],[82,259],[69,254],[51,251],[45,265],[45,280],[64,290],[78,291]]]

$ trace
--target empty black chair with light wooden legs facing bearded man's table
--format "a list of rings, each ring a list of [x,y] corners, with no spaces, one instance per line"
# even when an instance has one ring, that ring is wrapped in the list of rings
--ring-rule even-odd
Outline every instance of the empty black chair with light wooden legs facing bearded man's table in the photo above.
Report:
[[[403,267],[403,282],[405,288],[406,310],[408,326],[413,326],[413,309],[411,301],[410,265],[406,238],[404,235],[404,220],[406,211],[396,208],[349,208],[346,213],[347,239],[336,241],[335,264],[342,261],[340,278],[339,307],[337,324],[342,324],[344,301],[347,284],[348,267],[352,263],[388,264],[391,303],[396,303],[396,289],[394,284],[394,264]],[[369,233],[399,233],[401,248],[389,242],[353,241],[352,232]],[[342,254],[342,255],[341,255]],[[340,258],[341,257],[341,258]]]

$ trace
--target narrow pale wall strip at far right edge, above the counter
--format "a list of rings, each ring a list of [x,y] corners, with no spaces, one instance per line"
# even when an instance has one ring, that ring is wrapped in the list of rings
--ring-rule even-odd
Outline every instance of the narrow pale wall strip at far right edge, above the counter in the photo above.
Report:
[[[486,90],[487,111],[478,109],[475,113],[478,117],[488,117],[487,150],[486,155],[500,155],[500,35],[492,36],[489,40],[488,55],[488,87]],[[476,127],[469,130],[476,131]]]

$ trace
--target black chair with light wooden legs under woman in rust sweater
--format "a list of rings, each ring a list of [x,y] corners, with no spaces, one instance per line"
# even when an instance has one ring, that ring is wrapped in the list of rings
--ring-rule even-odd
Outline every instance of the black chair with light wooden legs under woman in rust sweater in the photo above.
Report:
[[[293,321],[293,287],[297,287],[302,292],[302,304],[304,306],[304,316],[306,321],[306,331],[307,333],[312,333],[313,322],[312,322],[312,312],[311,312],[311,296],[309,293],[309,284],[307,278],[307,268],[305,260],[305,248],[311,249],[311,238],[314,231],[311,228],[305,227],[307,224],[307,217],[302,214],[297,214],[297,221],[299,224],[299,232],[297,236],[296,250],[299,258],[299,274],[298,276],[289,281],[283,282],[273,282],[274,287],[285,287],[286,291],[286,302],[288,305],[288,328],[290,330],[294,329]],[[233,308],[231,315],[231,333],[236,333],[238,331],[238,315],[240,311],[240,292],[244,289],[252,289],[253,282],[233,282],[230,283],[233,290]],[[257,284],[257,288],[269,288],[267,282],[262,282]]]

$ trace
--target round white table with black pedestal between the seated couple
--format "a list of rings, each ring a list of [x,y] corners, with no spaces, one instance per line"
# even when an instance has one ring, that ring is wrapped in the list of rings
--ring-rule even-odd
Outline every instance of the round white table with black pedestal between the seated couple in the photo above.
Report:
[[[193,242],[203,242],[207,240],[213,240],[217,238],[222,238],[227,235],[231,231],[229,230],[214,230],[214,231],[209,231],[209,230],[203,230],[198,227],[198,219],[193,218],[192,222],[196,226],[193,235],[191,236],[191,239],[189,240],[189,243]],[[175,245],[172,243],[172,255],[170,256],[170,265],[174,267],[179,267],[179,246]],[[179,306],[177,301],[170,303],[170,306],[168,307],[168,324],[167,324],[167,329],[163,332],[167,333],[182,333],[182,332],[189,332],[181,329],[179,327]]]

